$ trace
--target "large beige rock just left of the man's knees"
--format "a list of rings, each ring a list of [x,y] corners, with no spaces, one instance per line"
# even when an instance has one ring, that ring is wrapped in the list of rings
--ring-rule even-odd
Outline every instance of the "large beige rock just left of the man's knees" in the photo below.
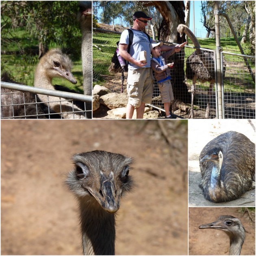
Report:
[[[128,95],[126,93],[108,93],[100,97],[100,104],[110,109],[126,107]]]

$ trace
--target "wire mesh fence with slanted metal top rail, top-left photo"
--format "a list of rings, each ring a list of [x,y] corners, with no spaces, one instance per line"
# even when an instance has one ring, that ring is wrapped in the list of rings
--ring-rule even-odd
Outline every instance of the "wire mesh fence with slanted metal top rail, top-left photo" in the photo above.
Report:
[[[46,101],[40,95],[47,95]],[[91,118],[91,96],[1,82],[1,119]]]

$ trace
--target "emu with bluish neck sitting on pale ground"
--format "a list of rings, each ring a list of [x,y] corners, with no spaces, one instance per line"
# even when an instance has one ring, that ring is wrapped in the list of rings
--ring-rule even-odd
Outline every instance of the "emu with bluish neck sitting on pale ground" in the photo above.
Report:
[[[239,132],[225,132],[208,142],[199,161],[199,186],[206,200],[232,201],[255,187],[255,144]]]

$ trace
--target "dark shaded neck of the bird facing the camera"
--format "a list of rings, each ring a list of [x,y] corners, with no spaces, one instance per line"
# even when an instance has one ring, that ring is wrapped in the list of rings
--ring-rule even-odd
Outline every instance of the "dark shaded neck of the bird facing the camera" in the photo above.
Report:
[[[79,203],[84,255],[114,255],[115,215],[104,211],[93,196]]]

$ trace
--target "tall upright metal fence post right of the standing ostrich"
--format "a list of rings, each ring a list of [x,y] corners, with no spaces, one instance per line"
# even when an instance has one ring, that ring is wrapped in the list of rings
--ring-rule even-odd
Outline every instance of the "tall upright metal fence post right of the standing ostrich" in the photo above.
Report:
[[[222,90],[221,90],[221,45],[220,45],[220,29],[219,29],[219,1],[214,2],[215,11],[215,35],[216,35],[216,66],[217,66],[217,104],[219,118],[223,118],[222,112]]]

